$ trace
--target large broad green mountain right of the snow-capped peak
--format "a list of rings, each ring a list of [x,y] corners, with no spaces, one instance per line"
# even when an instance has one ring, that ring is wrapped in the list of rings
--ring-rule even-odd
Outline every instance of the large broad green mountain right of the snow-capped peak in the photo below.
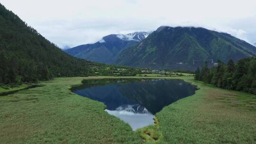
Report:
[[[119,54],[116,64],[194,71],[205,61],[227,63],[256,55],[256,47],[226,33],[196,27],[159,27]]]

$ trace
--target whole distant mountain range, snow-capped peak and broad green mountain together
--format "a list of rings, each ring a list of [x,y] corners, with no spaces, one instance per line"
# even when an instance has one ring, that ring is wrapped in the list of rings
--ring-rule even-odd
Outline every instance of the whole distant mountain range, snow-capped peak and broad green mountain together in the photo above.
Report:
[[[256,47],[227,33],[202,27],[162,26],[154,32],[109,35],[95,44],[65,50],[89,61],[139,68],[194,71],[256,55]]]

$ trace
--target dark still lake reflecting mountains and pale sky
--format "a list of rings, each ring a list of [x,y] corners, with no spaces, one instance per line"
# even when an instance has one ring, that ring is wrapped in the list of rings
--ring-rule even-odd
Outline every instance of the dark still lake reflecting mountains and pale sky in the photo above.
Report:
[[[136,130],[154,124],[155,113],[194,94],[195,88],[182,80],[102,79],[85,80],[72,91],[103,102],[110,115],[119,117]]]

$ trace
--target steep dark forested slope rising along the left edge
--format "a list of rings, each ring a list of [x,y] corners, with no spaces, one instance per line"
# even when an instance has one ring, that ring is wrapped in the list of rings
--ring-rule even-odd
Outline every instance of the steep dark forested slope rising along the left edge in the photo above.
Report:
[[[87,76],[91,62],[64,53],[0,4],[0,83]]]

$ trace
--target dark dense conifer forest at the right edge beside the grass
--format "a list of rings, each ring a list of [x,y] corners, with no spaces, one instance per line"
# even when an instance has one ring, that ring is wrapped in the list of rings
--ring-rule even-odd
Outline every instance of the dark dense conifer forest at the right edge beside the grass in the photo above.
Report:
[[[209,69],[208,63],[205,62],[201,70],[196,70],[195,80],[219,88],[256,94],[256,58],[241,59],[237,63],[230,59],[227,64],[218,61],[218,66],[212,69]]]

